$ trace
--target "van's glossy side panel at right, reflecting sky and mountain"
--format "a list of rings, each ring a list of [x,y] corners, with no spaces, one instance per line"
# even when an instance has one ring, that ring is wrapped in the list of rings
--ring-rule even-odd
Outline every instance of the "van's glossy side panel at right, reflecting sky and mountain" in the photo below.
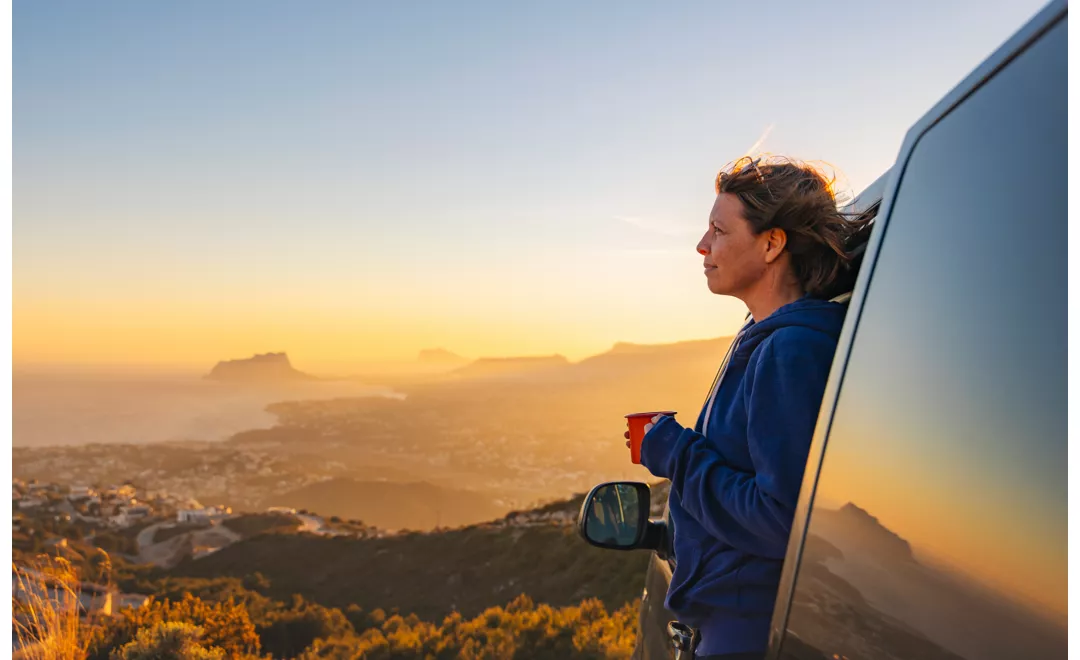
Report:
[[[772,658],[1066,657],[1067,15],[1048,12],[897,163]]]

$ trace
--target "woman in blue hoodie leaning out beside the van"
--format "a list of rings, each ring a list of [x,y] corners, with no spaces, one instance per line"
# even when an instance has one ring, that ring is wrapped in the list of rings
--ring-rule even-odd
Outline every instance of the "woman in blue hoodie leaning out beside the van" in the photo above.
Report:
[[[657,416],[642,463],[670,479],[675,573],[667,607],[700,632],[699,657],[760,658],[810,439],[843,323],[849,240],[868,219],[832,181],[787,159],[742,159],[716,178],[698,243],[708,289],[745,302],[693,429]]]

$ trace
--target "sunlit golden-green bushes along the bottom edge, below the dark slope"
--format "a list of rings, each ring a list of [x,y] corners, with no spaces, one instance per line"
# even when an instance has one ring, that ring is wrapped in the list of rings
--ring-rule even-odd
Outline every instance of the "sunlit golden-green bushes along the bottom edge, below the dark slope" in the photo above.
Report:
[[[191,594],[152,601],[98,627],[86,657],[612,659],[629,658],[636,637],[636,602],[608,614],[595,598],[555,608],[523,595],[471,619],[453,612],[440,623],[356,606],[347,615],[300,596],[288,605],[256,603],[253,608],[231,597],[207,602]]]

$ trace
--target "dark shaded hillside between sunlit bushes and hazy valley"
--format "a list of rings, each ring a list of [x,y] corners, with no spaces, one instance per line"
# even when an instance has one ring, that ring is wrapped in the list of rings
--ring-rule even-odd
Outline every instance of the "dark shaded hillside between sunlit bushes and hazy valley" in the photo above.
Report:
[[[572,525],[579,506],[580,496],[482,525],[386,538],[262,535],[185,561],[168,575],[258,571],[275,598],[298,593],[324,605],[400,608],[436,621],[453,611],[473,617],[523,593],[556,607],[597,597],[611,609],[639,600],[650,554],[582,541]]]

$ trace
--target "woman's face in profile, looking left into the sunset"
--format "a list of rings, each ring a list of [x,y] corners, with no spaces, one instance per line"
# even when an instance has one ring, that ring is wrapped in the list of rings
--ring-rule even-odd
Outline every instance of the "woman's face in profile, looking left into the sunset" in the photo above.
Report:
[[[738,297],[760,281],[768,265],[768,233],[754,235],[738,197],[730,192],[716,196],[708,229],[698,242],[698,254],[705,257],[708,291]]]

